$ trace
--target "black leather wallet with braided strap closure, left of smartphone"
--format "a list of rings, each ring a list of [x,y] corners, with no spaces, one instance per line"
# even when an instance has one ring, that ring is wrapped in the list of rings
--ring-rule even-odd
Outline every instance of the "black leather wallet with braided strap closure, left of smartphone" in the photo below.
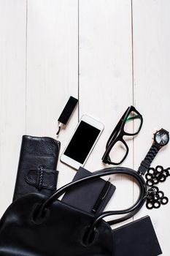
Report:
[[[55,191],[60,144],[53,138],[23,135],[13,200],[31,192],[49,196]]]

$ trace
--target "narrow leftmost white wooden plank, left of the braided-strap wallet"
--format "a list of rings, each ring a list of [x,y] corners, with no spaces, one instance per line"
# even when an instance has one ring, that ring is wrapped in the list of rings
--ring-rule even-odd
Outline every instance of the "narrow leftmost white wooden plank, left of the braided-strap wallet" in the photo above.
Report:
[[[15,186],[26,132],[26,1],[0,1],[0,215]]]

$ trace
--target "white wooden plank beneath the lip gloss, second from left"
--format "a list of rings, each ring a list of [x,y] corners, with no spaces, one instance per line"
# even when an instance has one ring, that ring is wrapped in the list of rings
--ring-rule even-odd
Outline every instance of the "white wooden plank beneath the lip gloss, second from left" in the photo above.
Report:
[[[28,1],[26,131],[55,138],[57,119],[69,99],[78,96],[78,1]],[[61,152],[78,121],[78,110],[61,131]],[[58,162],[58,187],[75,171]]]

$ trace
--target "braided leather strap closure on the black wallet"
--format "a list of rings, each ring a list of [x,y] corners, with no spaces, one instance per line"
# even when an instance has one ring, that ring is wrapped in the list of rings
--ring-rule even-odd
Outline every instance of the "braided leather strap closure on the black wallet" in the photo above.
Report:
[[[38,167],[28,170],[25,180],[31,186],[39,191],[42,189],[56,189],[58,170],[50,170],[44,167]]]

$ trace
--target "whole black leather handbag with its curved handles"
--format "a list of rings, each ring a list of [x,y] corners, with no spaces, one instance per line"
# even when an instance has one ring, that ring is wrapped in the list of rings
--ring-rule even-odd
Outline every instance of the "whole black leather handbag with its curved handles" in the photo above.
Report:
[[[58,200],[58,197],[77,184],[111,174],[125,174],[134,177],[137,181],[140,195],[134,206],[123,211],[106,211],[96,217]],[[124,253],[121,254],[120,251],[115,250],[115,244],[121,245],[121,237],[118,233],[114,233],[110,225],[134,216],[144,204],[146,193],[144,179],[136,171],[124,167],[113,167],[66,184],[50,197],[38,193],[20,197],[7,208],[1,218],[0,255],[125,256]],[[115,214],[126,215],[109,222],[103,220],[104,217]],[[146,249],[145,251],[146,253],[136,254],[132,249],[131,256],[158,255],[157,252],[150,253]],[[126,255],[129,255],[128,251]]]

